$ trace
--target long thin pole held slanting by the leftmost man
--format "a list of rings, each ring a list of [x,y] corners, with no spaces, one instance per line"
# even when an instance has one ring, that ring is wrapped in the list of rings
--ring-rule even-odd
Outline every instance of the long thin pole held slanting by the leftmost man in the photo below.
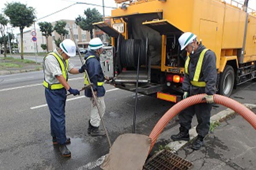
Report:
[[[74,39],[75,37],[74,37],[74,35],[73,35],[73,32],[72,32],[72,30],[71,30],[70,27],[69,27],[69,29],[70,29],[70,34],[72,35],[72,37],[73,37],[73,39]],[[75,39],[74,39],[74,40],[75,40]],[[75,44],[76,44],[76,48],[78,49],[79,58],[80,58],[81,63],[82,63],[82,65],[83,65],[84,63],[83,63],[83,60],[82,60],[82,57],[81,57],[81,54],[80,54],[80,51],[79,51],[79,48],[78,48],[78,45],[77,45],[77,42],[76,42],[76,41],[75,41]],[[88,80],[89,85],[90,85],[91,82],[90,82],[89,75],[88,75],[88,73],[87,73],[86,70],[84,70],[84,72],[85,72],[85,74],[86,74],[87,80]],[[105,127],[105,124],[104,124],[104,122],[103,122],[102,115],[101,115],[100,109],[99,109],[99,105],[98,105],[98,103],[97,103],[96,96],[95,96],[95,94],[94,94],[94,92],[93,92],[93,87],[92,87],[91,85],[90,85],[90,89],[91,89],[91,92],[92,92],[92,95],[93,95],[93,99],[94,99],[95,104],[96,104],[96,108],[97,108],[98,113],[99,113],[100,121],[102,122],[102,126],[103,126],[103,128],[104,128],[104,130],[105,130],[105,133],[106,133],[106,136],[107,136],[107,139],[108,139],[108,144],[109,144],[109,146],[111,147],[112,145],[111,145],[111,142],[110,142],[110,139],[109,139],[109,136],[108,136],[108,131],[107,131],[107,129],[106,129],[106,127]]]

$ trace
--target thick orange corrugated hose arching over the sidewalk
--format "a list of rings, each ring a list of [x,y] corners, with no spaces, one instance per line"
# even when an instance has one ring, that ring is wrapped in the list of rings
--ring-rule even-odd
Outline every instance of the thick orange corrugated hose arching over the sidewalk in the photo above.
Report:
[[[205,100],[202,100],[205,94],[198,94],[195,96],[188,97],[184,100],[181,100],[180,102],[176,103],[172,108],[170,108],[163,116],[162,118],[157,122],[157,124],[154,126],[153,130],[151,131],[149,137],[151,138],[151,147],[154,146],[157,137],[160,135],[160,133],[163,131],[163,128],[170,122],[170,120],[177,115],[177,113],[180,113],[180,111],[184,110],[185,108],[188,108],[189,106],[198,104],[198,103],[204,103]],[[256,129],[256,115],[250,111],[250,109],[246,108],[241,103],[230,99],[225,96],[221,96],[218,94],[213,95],[214,102],[216,104],[224,105],[233,111],[236,111],[239,113],[247,122],[249,122],[254,129]],[[149,151],[149,152],[150,152]]]

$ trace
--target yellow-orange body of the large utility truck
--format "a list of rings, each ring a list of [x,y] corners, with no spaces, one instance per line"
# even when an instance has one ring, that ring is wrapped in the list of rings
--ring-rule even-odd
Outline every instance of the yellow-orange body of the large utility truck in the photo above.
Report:
[[[125,0],[116,0],[116,2],[123,3]],[[145,20],[141,24],[161,34],[160,69],[162,72],[172,73],[173,69],[177,68],[177,66],[166,65],[168,31],[173,30],[174,34],[177,31],[181,33],[190,31],[198,36],[198,41],[215,52],[220,77],[226,76],[222,74],[227,65],[232,66],[234,78],[231,79],[233,81],[231,91],[236,84],[255,79],[255,11],[245,12],[241,4],[231,5],[222,0],[137,0],[129,4],[124,3],[121,8],[112,10],[112,25],[125,23],[122,35],[128,39],[129,27],[125,17],[140,17],[143,14],[153,13],[158,14],[159,18]],[[112,39],[112,43],[116,45],[115,38]],[[152,67],[157,67],[157,65],[152,65]],[[184,74],[183,67],[178,66],[179,73],[176,71],[175,74]],[[247,77],[247,80],[244,80],[244,77]],[[224,78],[221,79],[226,81]],[[221,88],[223,92],[225,85]],[[230,90],[226,94],[223,92],[224,95],[229,96]]]

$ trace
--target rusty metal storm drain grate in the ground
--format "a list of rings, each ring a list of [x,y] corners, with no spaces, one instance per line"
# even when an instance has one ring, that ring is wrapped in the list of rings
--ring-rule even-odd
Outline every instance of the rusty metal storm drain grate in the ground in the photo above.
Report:
[[[143,170],[188,170],[193,164],[169,150],[161,151],[143,166]]]

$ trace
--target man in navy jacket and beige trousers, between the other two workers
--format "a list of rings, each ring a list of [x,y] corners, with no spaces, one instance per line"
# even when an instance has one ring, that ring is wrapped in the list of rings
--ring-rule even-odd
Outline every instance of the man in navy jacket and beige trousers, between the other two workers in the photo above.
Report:
[[[104,76],[100,61],[99,55],[102,53],[103,47],[102,40],[99,38],[93,38],[89,42],[89,51],[85,54],[83,68],[87,70],[90,82],[93,83],[93,93],[96,96],[96,101],[93,99],[93,94],[90,89],[84,91],[84,95],[89,97],[92,105],[90,110],[90,119],[87,133],[91,136],[105,136],[105,133],[99,130],[100,125],[100,116],[96,107],[96,102],[99,106],[99,111],[101,116],[105,114],[105,88],[103,86],[104,80],[109,80],[108,77]],[[88,79],[86,74],[84,74],[84,85],[88,85]]]

